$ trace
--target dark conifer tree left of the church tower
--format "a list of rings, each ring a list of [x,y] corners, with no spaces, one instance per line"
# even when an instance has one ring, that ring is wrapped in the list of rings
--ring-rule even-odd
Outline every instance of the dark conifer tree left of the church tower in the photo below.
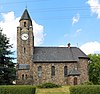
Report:
[[[0,30],[0,84],[7,85],[12,84],[15,80],[15,68],[11,57],[13,52],[11,51],[12,45],[9,44],[9,39]]]

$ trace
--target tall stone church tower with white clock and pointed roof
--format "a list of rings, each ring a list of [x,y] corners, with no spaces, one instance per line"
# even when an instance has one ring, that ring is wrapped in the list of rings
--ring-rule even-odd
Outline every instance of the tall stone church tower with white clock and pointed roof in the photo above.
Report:
[[[17,27],[17,84],[32,84],[34,36],[32,20],[25,9]]]

